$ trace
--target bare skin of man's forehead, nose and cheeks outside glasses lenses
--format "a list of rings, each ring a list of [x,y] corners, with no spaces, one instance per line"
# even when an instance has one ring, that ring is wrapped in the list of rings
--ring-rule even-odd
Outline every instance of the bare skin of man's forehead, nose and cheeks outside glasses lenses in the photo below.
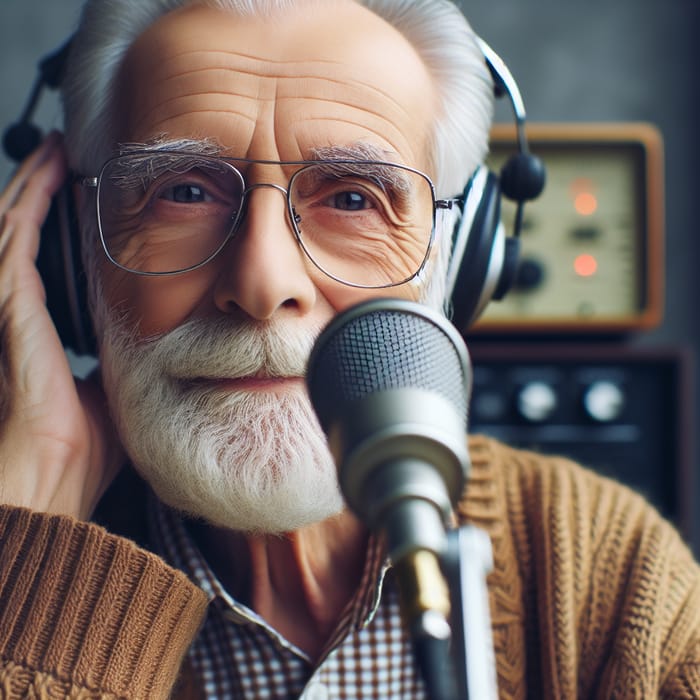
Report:
[[[282,161],[366,143],[385,160],[425,170],[434,93],[403,37],[341,0],[267,20],[201,6],[173,12],[129,51],[117,104],[122,143],[210,139],[230,157]],[[247,176],[287,187],[280,168]],[[255,190],[247,206],[235,239],[200,270],[154,279],[106,263],[108,304],[147,336],[232,312],[322,325],[378,294],[334,282],[309,264],[279,190]],[[389,293],[415,298],[419,290],[414,283]]]

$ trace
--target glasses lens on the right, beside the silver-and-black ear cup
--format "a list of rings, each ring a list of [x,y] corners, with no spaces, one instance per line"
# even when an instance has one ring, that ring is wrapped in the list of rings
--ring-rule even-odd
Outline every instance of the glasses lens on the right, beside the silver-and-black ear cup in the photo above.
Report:
[[[298,171],[289,192],[301,245],[326,274],[386,287],[420,270],[434,198],[421,173],[387,163],[326,162]]]

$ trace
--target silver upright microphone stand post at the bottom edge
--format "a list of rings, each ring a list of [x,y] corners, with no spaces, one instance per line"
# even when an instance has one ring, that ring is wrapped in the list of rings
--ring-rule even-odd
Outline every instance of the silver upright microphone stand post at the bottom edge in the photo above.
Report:
[[[450,589],[457,698],[498,700],[486,586],[486,576],[493,569],[491,540],[473,525],[449,530],[441,564]]]

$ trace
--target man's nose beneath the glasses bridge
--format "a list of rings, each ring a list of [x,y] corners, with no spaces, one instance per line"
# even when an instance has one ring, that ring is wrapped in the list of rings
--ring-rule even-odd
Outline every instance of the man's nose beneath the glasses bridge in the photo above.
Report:
[[[265,320],[280,308],[303,314],[316,300],[316,287],[287,214],[286,190],[257,184],[246,190],[238,230],[221,252],[214,292],[219,309],[243,310]]]

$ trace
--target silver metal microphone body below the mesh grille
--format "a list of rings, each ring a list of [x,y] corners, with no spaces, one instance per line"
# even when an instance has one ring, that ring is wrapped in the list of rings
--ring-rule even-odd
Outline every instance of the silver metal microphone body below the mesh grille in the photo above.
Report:
[[[385,532],[394,562],[444,551],[468,457],[462,421],[442,396],[410,387],[369,394],[339,406],[328,440],[347,504]]]

